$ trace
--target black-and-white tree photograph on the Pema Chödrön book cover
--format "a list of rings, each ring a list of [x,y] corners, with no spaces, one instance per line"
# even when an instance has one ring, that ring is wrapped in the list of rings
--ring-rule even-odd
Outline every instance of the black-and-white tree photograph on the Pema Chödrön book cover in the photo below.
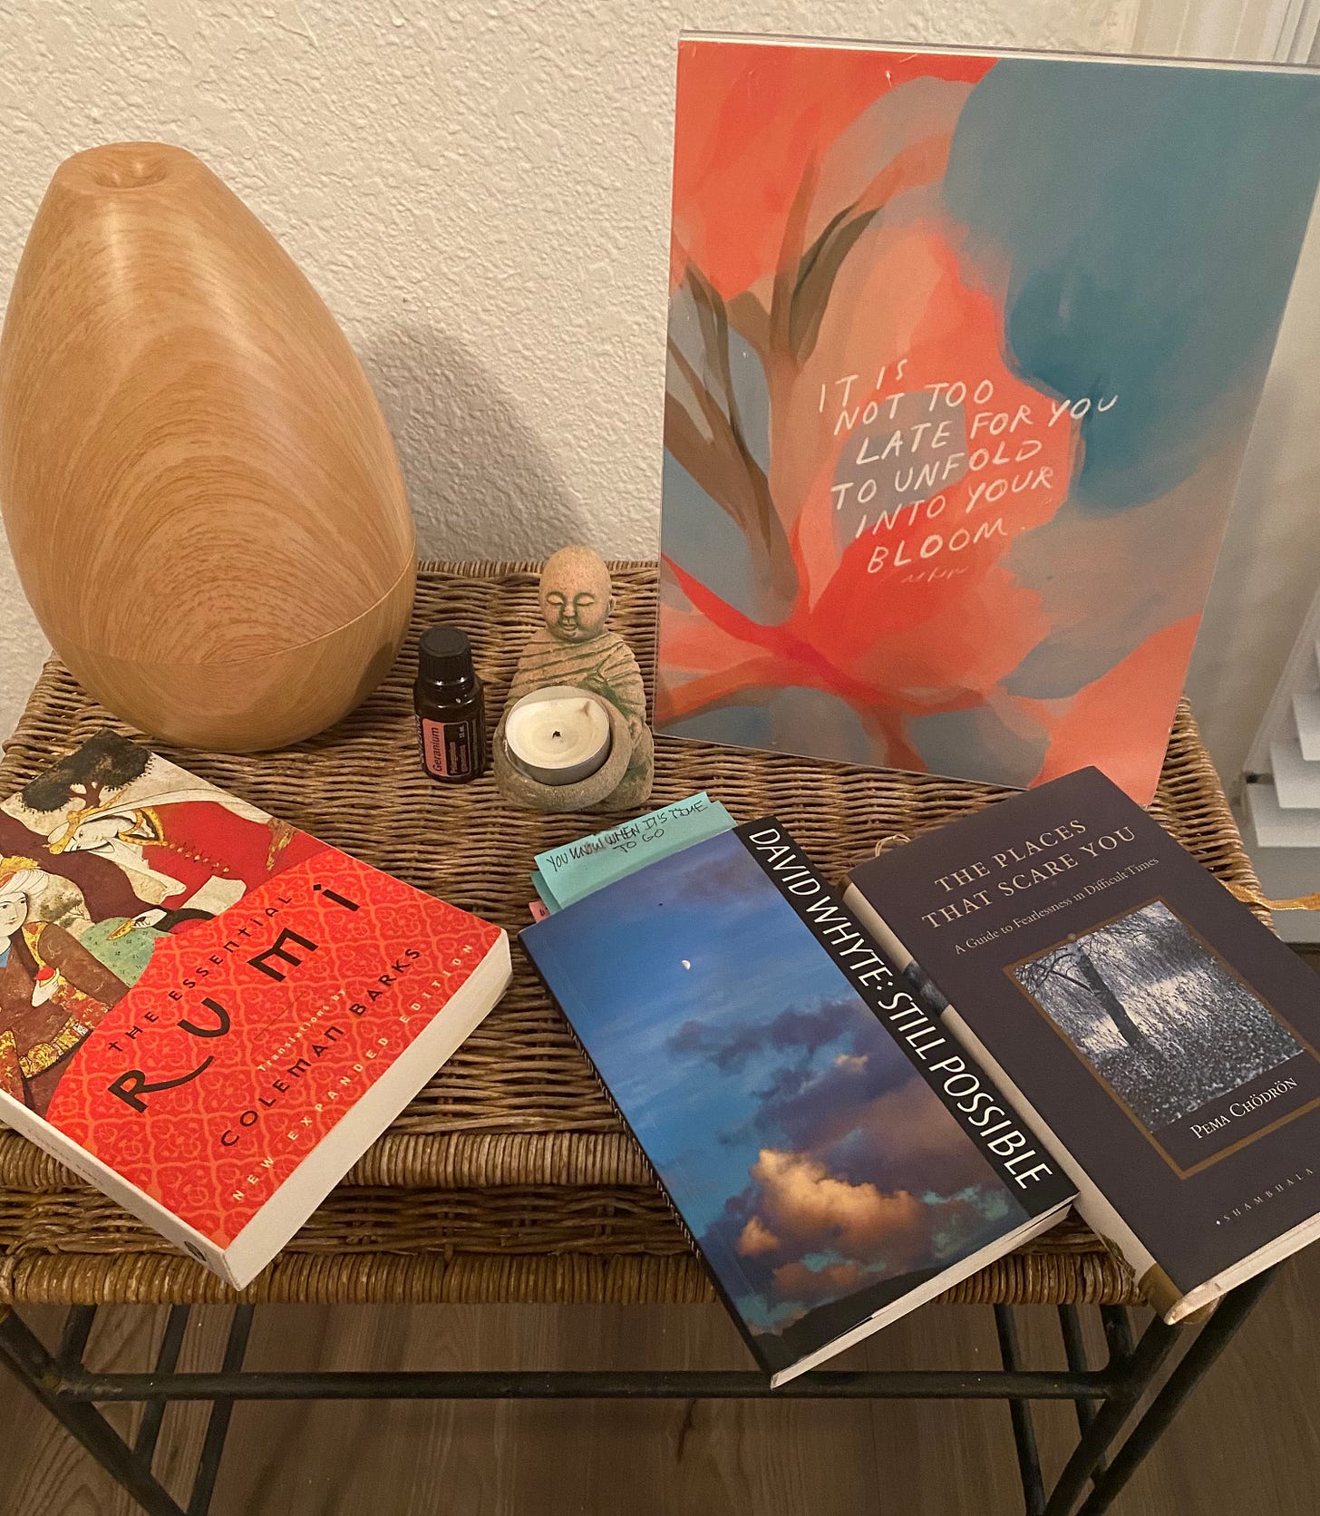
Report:
[[[1162,901],[1009,972],[1152,1132],[1302,1052]]]

